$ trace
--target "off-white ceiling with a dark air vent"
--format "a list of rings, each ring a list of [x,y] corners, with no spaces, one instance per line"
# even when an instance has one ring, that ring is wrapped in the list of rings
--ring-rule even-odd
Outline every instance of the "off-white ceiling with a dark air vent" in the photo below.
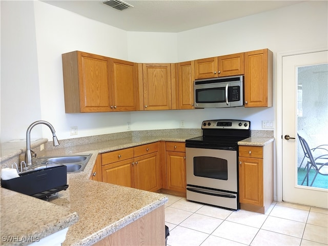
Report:
[[[304,1],[125,0],[134,7],[122,11],[104,4],[105,0],[42,2],[126,31],[181,32]]]

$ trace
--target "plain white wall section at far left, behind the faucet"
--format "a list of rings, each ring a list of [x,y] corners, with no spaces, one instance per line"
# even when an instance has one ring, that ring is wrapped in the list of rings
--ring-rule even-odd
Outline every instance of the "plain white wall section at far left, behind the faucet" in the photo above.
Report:
[[[1,1],[1,142],[25,138],[41,118],[34,7]],[[40,128],[35,134],[42,135]]]

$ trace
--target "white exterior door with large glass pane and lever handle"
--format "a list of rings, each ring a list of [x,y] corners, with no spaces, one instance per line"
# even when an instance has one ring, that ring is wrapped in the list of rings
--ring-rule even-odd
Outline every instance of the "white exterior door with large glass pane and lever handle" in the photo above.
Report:
[[[282,200],[321,208],[328,207],[328,176],[318,174],[311,186],[308,159],[299,167],[304,153],[297,133],[310,148],[328,145],[327,63],[327,51],[282,57]]]

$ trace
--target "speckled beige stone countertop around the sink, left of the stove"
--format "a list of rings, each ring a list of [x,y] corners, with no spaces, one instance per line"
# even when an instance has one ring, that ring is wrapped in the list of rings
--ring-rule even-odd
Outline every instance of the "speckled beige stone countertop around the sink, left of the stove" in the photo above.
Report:
[[[159,208],[168,200],[165,195],[159,193],[90,180],[97,155],[160,140],[185,142],[186,139],[195,136],[199,135],[131,136],[82,145],[78,145],[77,142],[68,144],[64,141],[64,147],[67,145],[65,148],[53,147],[38,153],[38,156],[77,153],[91,153],[92,156],[83,172],[67,175],[69,188],[66,191],[60,191],[58,197],[50,199],[49,202],[1,188],[1,229],[5,229],[1,230],[1,236],[22,238],[35,235],[43,238],[69,227],[63,246],[92,245]],[[24,197],[23,200],[28,200],[28,202],[20,203],[21,197]],[[20,208],[19,211],[12,209],[12,206],[7,206],[7,204],[12,204],[11,202]],[[40,213],[34,213],[35,207],[39,208],[37,211]],[[33,212],[31,213],[31,211]],[[29,216],[25,216],[26,214]],[[33,220],[30,219],[30,216],[34,216]],[[49,221],[46,220],[45,216],[49,217]],[[60,226],[58,226],[58,221],[52,218],[60,221]],[[15,223],[12,223],[16,220],[22,226],[20,230],[15,228]],[[43,226],[44,224],[47,226]],[[33,234],[24,230],[35,226],[38,230],[33,231]],[[29,243],[20,242],[16,245],[27,244]]]

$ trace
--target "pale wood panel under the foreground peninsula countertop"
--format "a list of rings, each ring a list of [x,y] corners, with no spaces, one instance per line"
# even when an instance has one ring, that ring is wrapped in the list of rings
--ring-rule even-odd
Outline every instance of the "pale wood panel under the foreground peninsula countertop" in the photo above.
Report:
[[[93,245],[166,245],[164,206],[142,216]]]

